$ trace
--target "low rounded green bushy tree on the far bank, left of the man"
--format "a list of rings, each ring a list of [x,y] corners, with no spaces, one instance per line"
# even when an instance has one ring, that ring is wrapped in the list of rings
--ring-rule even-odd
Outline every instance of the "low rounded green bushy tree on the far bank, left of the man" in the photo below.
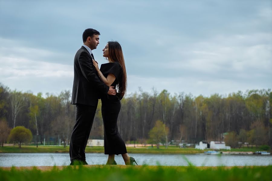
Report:
[[[11,130],[8,140],[18,143],[19,148],[21,148],[22,143],[29,143],[32,140],[32,133],[24,126],[16,126]]]

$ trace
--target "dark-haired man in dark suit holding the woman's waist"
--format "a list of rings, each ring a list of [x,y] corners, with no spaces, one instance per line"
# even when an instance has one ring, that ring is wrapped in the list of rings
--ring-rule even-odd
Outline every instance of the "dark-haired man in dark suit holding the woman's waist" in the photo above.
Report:
[[[83,32],[83,46],[74,59],[74,83],[71,104],[76,105],[76,124],[70,140],[71,165],[87,164],[85,148],[96,114],[99,94],[115,95],[114,87],[108,87],[98,78],[93,67],[92,50],[99,44],[100,33],[92,28]]]

